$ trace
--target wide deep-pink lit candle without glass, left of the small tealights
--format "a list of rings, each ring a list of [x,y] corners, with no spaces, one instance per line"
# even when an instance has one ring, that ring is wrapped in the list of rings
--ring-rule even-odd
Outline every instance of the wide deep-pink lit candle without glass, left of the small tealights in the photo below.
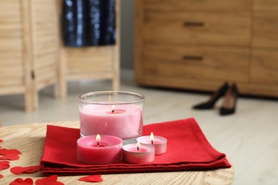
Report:
[[[93,135],[77,140],[77,159],[88,164],[109,164],[122,159],[123,140],[109,135]]]

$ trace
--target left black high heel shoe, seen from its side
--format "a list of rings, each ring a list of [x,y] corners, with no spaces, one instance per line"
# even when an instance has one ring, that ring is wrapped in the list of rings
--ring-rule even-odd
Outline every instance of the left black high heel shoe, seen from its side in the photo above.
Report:
[[[210,100],[208,100],[207,102],[202,102],[198,105],[195,105],[193,107],[193,109],[197,109],[197,110],[212,109],[215,106],[215,102],[217,102],[217,100],[220,97],[225,95],[228,88],[229,88],[228,83],[224,83],[224,85],[222,85],[215,93],[212,94],[212,96],[210,97]]]

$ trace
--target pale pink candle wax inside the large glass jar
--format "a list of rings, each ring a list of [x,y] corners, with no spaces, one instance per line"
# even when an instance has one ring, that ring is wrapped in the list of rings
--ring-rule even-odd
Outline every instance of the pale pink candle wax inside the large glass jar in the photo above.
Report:
[[[80,110],[81,136],[106,134],[130,139],[142,134],[142,111],[136,105],[86,105]]]

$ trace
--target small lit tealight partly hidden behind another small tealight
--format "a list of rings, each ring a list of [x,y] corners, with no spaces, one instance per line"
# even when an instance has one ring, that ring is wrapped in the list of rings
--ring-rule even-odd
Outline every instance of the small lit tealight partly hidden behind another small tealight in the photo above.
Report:
[[[167,139],[161,136],[153,136],[153,132],[150,133],[150,136],[138,137],[137,141],[153,145],[155,147],[155,155],[164,154],[167,151]]]

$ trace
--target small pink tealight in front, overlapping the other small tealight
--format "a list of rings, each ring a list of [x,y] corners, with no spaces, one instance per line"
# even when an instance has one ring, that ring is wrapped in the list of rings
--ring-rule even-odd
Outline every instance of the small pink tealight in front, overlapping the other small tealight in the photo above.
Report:
[[[155,159],[155,147],[148,144],[126,144],[123,146],[123,160],[132,164],[146,164]]]

